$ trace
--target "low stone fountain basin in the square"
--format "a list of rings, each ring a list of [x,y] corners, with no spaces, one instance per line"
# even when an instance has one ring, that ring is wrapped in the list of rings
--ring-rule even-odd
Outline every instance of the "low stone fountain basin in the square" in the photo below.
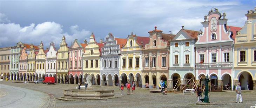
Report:
[[[79,90],[69,89],[64,90],[64,96],[71,97],[109,97],[114,96],[114,90]]]

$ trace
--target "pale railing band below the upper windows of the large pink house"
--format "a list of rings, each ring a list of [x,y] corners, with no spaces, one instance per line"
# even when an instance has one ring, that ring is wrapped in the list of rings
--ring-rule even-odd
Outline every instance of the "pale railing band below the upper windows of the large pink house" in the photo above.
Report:
[[[231,62],[196,63],[196,68],[217,68],[217,67],[232,67],[232,63]]]

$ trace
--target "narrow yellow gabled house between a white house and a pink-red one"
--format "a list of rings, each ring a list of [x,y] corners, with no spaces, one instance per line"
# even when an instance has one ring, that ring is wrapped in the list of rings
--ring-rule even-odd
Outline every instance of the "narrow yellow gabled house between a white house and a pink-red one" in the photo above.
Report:
[[[68,82],[68,45],[65,36],[62,37],[60,49],[57,52],[57,82]]]

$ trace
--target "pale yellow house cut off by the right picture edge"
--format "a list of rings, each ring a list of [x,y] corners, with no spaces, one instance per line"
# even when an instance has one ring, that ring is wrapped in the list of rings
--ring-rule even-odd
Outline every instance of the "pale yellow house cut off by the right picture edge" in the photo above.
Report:
[[[237,33],[234,53],[233,82],[242,90],[256,89],[256,7],[248,11],[244,27]]]

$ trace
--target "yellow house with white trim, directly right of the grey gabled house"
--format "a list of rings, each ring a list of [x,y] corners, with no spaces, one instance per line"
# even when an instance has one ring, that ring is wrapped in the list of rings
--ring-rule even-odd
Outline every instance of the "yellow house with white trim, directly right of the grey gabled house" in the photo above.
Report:
[[[120,84],[135,82],[137,87],[141,87],[141,72],[142,72],[142,49],[146,43],[143,43],[143,39],[147,37],[136,36],[133,33],[128,35],[127,42],[121,49],[120,63]]]

